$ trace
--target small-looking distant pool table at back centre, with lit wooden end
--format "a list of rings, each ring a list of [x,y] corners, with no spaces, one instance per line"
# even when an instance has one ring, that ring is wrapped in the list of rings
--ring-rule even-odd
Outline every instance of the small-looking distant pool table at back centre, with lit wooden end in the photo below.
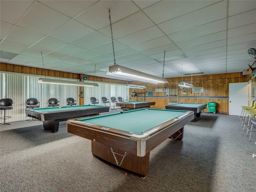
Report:
[[[156,102],[152,101],[125,101],[125,102],[117,102],[116,106],[121,107],[122,110],[134,110],[141,108],[150,108],[151,105],[155,105]]]

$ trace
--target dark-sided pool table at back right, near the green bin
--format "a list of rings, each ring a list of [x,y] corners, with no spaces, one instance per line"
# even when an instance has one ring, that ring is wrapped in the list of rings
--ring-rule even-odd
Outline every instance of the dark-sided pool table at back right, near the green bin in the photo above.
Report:
[[[204,110],[206,107],[207,104],[205,103],[175,103],[166,105],[165,109],[194,111],[193,121],[195,121],[196,117],[200,117],[202,110]]]

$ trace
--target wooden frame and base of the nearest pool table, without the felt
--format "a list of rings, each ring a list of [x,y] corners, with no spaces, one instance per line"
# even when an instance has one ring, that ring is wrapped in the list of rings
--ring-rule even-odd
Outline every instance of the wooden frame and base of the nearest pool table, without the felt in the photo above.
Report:
[[[100,116],[98,117],[100,118]],[[150,151],[167,138],[181,140],[183,138],[184,126],[193,118],[194,113],[192,111],[185,111],[184,114],[176,118],[170,118],[166,122],[150,128],[139,135],[113,128],[108,130],[107,127],[90,124],[86,120],[84,122],[80,122],[79,120],[67,121],[67,131],[68,133],[91,140],[92,154],[94,156],[114,165],[122,162],[121,165],[118,165],[119,167],[145,177],[149,171]],[[114,157],[112,150],[119,155]],[[128,154],[125,156],[126,153]],[[125,157],[123,158],[123,156]]]

